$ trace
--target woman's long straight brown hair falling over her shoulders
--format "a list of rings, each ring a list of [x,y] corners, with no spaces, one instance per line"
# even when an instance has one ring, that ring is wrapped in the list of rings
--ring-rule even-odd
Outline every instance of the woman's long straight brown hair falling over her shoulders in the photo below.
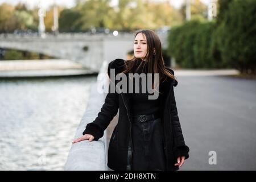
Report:
[[[168,69],[166,69],[164,66],[164,60],[162,55],[162,44],[160,42],[159,36],[152,30],[144,29],[144,30],[138,30],[137,32],[135,32],[134,39],[139,33],[142,33],[146,36],[147,54],[145,56],[145,61],[141,61],[141,64],[139,64],[137,70],[141,67],[144,70],[144,67],[147,64],[148,65],[147,73],[152,73],[152,75],[154,75],[154,73],[159,73],[160,83],[165,81],[167,77],[170,77],[176,80],[175,76],[172,75],[172,73],[168,71]],[[154,48],[155,48],[155,54],[153,54]],[[122,73],[127,73],[127,72],[129,73],[131,70],[133,70],[135,66],[135,60],[137,59],[139,58],[133,56],[132,59],[125,60],[125,70]],[[153,81],[152,89],[154,89],[154,81]]]

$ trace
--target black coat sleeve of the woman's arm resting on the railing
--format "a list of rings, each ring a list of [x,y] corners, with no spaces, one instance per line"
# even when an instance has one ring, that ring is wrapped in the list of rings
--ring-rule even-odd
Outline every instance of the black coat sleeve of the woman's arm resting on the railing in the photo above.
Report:
[[[112,68],[113,61],[108,65],[108,76],[110,77],[110,68]],[[91,134],[93,135],[93,140],[98,140],[104,135],[104,130],[108,127],[109,123],[112,121],[115,115],[117,115],[119,109],[119,101],[117,92],[110,93],[110,85],[109,92],[106,95],[104,104],[101,107],[101,111],[98,113],[96,119],[88,123],[83,135]]]

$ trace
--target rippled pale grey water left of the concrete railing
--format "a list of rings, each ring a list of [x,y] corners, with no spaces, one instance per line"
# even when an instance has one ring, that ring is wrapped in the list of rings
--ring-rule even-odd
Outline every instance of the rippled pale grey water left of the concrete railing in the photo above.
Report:
[[[0,80],[0,170],[63,170],[94,82]]]

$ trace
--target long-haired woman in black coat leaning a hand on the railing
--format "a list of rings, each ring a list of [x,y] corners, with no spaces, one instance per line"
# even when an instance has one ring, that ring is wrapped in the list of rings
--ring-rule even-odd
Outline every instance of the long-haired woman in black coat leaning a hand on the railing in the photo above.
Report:
[[[139,93],[134,92],[136,85],[132,93],[117,92],[116,89],[110,92],[109,86],[100,113],[88,123],[83,136],[73,143],[101,138],[119,109],[118,123],[109,143],[108,167],[114,170],[179,169],[189,156],[189,148],[185,145],[177,115],[174,96],[177,80],[174,71],[164,66],[162,46],[154,31],[136,32],[133,59],[115,59],[109,63],[110,85],[114,84],[115,88],[121,79],[113,80],[113,77],[119,73],[127,78],[130,78],[129,73],[158,73],[157,77],[153,76],[154,84],[150,82],[154,94],[159,93],[158,97],[149,100],[152,93],[141,92],[144,82],[140,79],[134,83],[139,85]],[[146,79],[148,81],[148,77]]]

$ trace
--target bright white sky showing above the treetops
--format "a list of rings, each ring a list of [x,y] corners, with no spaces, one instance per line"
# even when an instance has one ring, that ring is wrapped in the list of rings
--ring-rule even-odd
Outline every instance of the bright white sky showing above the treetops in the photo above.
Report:
[[[164,1],[164,0],[151,0],[151,1]],[[179,9],[180,6],[184,3],[185,0],[170,0],[170,3],[176,8]],[[193,0],[192,0],[193,1]],[[207,5],[210,0],[200,0],[203,2],[205,5]],[[26,5],[29,8],[39,6],[40,0],[0,0],[1,3],[10,3],[12,5],[16,5],[19,2],[26,3]],[[56,2],[57,5],[64,5],[66,7],[72,7],[75,5],[75,0],[43,0],[42,2],[42,7],[48,8],[49,6],[53,5],[54,2]],[[117,5],[118,0],[112,0],[111,5]]]

